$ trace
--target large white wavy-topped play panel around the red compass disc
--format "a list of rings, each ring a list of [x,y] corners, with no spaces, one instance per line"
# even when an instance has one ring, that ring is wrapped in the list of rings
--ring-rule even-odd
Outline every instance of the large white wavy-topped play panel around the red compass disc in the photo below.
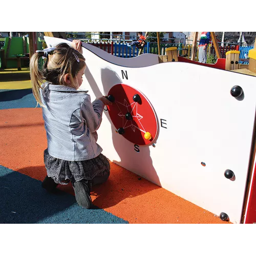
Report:
[[[69,42],[45,39],[48,47]],[[83,48],[87,79],[81,89],[89,90],[94,100],[107,95],[115,84],[125,83],[147,97],[159,121],[156,147],[140,146],[138,153],[133,143],[115,132],[104,111],[98,130],[103,154],[172,193],[218,216],[225,212],[231,222],[240,223],[255,121],[256,78],[185,62],[156,65],[152,61],[146,67],[142,56],[147,54],[120,58],[115,65],[109,62],[114,62],[111,54],[103,59],[93,49]],[[144,67],[135,68],[137,61]],[[236,85],[244,91],[243,100],[230,95]],[[234,181],[225,178],[226,169],[234,172]]]

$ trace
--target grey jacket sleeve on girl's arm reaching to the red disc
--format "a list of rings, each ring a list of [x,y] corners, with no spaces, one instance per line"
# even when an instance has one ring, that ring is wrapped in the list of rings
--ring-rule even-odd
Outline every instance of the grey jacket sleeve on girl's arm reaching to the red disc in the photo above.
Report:
[[[90,95],[84,97],[81,104],[81,118],[91,133],[96,132],[102,121],[104,103],[101,100],[91,102]]]

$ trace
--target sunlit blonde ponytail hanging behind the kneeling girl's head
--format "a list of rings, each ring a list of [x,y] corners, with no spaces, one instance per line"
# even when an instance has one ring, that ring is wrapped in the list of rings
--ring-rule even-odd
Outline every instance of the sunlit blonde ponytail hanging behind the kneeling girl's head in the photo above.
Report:
[[[45,107],[45,105],[42,104],[41,97],[40,97],[40,88],[41,88],[41,84],[44,82],[44,75],[42,74],[42,71],[38,69],[38,60],[42,56],[44,56],[44,52],[34,53],[30,58],[29,67],[30,67],[30,78],[32,83],[33,95],[37,101],[37,105],[39,103],[40,106]]]

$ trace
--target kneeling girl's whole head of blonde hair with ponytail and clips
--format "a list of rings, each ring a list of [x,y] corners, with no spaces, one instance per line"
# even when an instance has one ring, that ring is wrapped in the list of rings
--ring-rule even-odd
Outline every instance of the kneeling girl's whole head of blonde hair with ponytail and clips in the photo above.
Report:
[[[80,52],[68,44],[62,43],[48,54],[42,70],[39,70],[38,61],[44,54],[44,52],[36,52],[32,55],[29,64],[32,91],[37,103],[41,106],[44,104],[41,101],[40,88],[42,89],[41,84],[45,80],[51,84],[65,86],[64,75],[69,74],[73,82],[73,78],[86,65],[86,59]],[[79,62],[76,57],[78,57]]]

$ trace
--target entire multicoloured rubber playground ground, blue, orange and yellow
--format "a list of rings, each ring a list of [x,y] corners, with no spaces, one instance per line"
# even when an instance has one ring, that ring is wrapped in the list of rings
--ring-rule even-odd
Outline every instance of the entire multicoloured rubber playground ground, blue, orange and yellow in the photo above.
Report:
[[[12,80],[0,72],[2,225],[232,224],[112,162],[109,180],[92,189],[97,209],[80,207],[71,184],[47,193],[41,187],[47,147],[41,108],[35,108],[30,81],[14,75],[28,71],[5,73]]]

